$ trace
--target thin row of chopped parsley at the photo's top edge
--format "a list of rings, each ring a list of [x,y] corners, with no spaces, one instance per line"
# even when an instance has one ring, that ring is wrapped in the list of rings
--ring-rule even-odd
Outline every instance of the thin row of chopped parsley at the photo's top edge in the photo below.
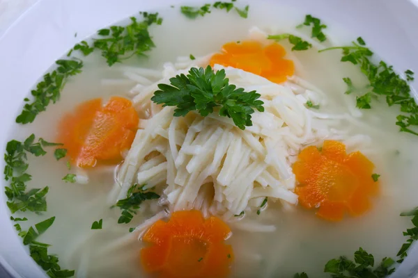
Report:
[[[189,19],[196,19],[197,17],[203,17],[206,14],[210,13],[211,8],[216,8],[219,10],[226,10],[227,13],[229,13],[230,10],[235,9],[235,11],[240,15],[242,18],[248,17],[248,11],[249,6],[245,6],[244,8],[238,8],[234,6],[235,1],[231,2],[222,2],[217,1],[213,3],[213,5],[210,5],[210,3],[207,3],[201,7],[192,7],[192,6],[180,6],[180,12],[183,13],[186,17]]]

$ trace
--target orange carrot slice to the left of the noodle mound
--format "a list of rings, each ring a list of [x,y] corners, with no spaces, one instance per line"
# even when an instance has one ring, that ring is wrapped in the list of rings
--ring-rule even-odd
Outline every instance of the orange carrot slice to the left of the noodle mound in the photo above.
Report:
[[[93,167],[98,161],[118,163],[121,152],[130,148],[138,123],[130,100],[111,97],[102,106],[102,99],[91,99],[64,115],[57,140],[79,167]]]

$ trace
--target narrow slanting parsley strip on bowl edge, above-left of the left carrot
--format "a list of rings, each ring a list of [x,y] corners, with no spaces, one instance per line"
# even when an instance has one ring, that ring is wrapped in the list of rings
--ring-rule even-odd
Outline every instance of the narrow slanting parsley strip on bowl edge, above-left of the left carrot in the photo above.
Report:
[[[36,85],[31,91],[33,101],[24,105],[22,113],[17,116],[18,124],[28,124],[35,120],[36,116],[45,111],[52,102],[55,103],[61,96],[61,90],[70,76],[82,72],[83,62],[81,60],[57,60],[56,70],[43,76],[43,81]],[[25,99],[26,102],[29,99]]]

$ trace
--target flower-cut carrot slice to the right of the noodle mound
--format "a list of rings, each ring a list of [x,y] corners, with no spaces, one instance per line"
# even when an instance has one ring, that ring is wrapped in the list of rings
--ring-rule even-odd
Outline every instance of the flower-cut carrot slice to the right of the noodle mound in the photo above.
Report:
[[[346,146],[325,140],[321,151],[315,146],[300,152],[293,172],[300,183],[295,193],[306,208],[319,208],[316,215],[338,221],[344,213],[360,215],[371,207],[369,197],[378,194],[373,181],[374,165],[360,152],[346,154]]]

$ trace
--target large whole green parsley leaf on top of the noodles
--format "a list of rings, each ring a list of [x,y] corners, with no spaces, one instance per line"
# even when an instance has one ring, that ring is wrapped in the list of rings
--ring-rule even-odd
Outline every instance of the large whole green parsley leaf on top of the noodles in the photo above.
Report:
[[[216,73],[208,65],[206,70],[192,67],[189,74],[177,75],[170,79],[171,85],[159,84],[151,98],[156,104],[163,106],[177,106],[175,117],[185,116],[189,111],[198,111],[203,117],[214,112],[219,107],[219,115],[231,117],[236,126],[245,129],[251,126],[251,114],[256,108],[263,112],[263,101],[256,91],[245,92],[229,84],[225,70]]]

